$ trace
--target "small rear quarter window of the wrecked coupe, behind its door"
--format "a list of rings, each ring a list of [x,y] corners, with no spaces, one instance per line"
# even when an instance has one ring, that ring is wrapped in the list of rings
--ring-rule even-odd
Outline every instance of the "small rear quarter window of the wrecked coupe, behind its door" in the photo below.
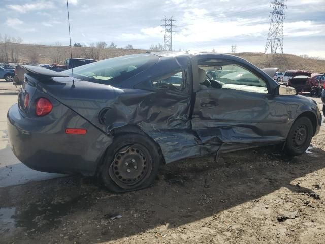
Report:
[[[168,90],[184,90],[185,89],[185,70],[175,71],[172,74],[168,74],[161,77],[158,80],[152,81],[152,86],[158,89]]]

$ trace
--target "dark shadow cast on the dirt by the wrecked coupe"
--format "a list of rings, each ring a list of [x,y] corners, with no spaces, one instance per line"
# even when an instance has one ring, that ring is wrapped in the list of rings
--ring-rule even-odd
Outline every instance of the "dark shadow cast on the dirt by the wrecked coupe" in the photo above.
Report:
[[[0,188],[0,205],[17,208],[16,226],[32,229],[31,237],[24,238],[35,243],[41,238],[39,233],[55,231],[52,229],[62,228],[63,223],[74,230],[74,221],[79,231],[91,234],[80,237],[72,231],[67,234],[69,240],[89,243],[100,237],[100,242],[111,241],[155,227],[161,232],[176,228],[258,201],[282,187],[315,198],[311,189],[292,183],[325,167],[321,160],[325,151],[313,148],[310,152],[290,158],[274,153],[273,147],[264,147],[221,154],[217,162],[213,156],[182,160],[161,167],[152,187],[125,194],[107,192],[95,178],[72,176],[47,180],[46,184],[34,182]],[[10,199],[10,194],[3,197],[10,191],[16,199]],[[28,194],[18,197],[16,191]],[[110,220],[117,214],[122,217]],[[40,216],[46,220],[43,225],[35,221]]]

